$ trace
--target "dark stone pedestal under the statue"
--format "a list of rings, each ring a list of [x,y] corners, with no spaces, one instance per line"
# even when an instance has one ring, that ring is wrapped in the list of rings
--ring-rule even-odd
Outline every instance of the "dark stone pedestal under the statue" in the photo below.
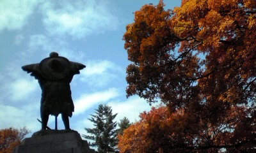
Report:
[[[73,130],[42,130],[25,138],[13,153],[94,153]]]

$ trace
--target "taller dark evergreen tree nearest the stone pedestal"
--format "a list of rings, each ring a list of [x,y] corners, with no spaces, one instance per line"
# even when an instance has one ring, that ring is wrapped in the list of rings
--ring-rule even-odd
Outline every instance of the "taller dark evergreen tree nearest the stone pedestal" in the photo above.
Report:
[[[84,128],[90,135],[83,135],[88,140],[93,140],[90,143],[92,147],[98,147],[99,152],[115,152],[117,145],[116,138],[116,122],[117,113],[112,114],[112,109],[108,105],[99,105],[95,111],[95,115],[89,119],[93,122],[94,128]]]

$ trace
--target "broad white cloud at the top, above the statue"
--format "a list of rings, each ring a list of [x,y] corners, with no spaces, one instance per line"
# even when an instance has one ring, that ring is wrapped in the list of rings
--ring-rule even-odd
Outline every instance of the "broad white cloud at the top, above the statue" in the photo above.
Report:
[[[43,22],[51,34],[83,38],[116,29],[117,17],[108,9],[108,4],[102,0],[70,1],[63,4],[49,1],[42,9]]]

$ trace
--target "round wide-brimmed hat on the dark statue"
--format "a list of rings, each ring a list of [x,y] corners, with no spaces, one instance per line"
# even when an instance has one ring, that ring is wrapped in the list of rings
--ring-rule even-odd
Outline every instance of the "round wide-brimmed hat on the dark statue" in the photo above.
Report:
[[[70,72],[70,61],[52,52],[50,57],[43,59],[39,64],[42,77],[47,80],[61,80]]]

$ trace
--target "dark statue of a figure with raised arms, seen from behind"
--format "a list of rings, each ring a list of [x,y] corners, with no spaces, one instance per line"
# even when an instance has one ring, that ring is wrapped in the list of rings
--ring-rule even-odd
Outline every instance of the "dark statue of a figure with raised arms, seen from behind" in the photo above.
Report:
[[[24,71],[38,80],[42,89],[40,113],[42,129],[46,129],[49,115],[61,117],[65,129],[70,129],[68,117],[72,117],[74,103],[71,97],[70,82],[74,75],[85,66],[78,62],[68,61],[56,52],[50,57],[43,59],[40,63],[22,66]]]

